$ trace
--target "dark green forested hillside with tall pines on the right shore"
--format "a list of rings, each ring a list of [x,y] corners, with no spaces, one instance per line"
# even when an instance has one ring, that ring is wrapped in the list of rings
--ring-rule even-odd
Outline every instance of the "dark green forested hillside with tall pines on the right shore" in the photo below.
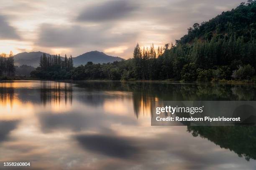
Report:
[[[167,44],[157,59],[141,55],[137,46],[134,60],[141,69],[135,75],[137,79],[184,81],[251,79],[256,66],[255,39],[256,2],[249,0],[208,22],[195,23],[175,45],[168,48]]]

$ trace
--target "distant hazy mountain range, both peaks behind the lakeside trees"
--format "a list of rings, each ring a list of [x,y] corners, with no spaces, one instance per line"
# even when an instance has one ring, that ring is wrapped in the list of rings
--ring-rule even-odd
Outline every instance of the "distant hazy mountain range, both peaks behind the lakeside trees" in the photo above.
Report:
[[[31,65],[33,67],[38,67],[39,62],[40,62],[40,57],[46,52],[21,52],[18,53],[17,55],[14,55],[14,64],[17,66],[20,65]],[[49,56],[50,54],[46,53],[46,56]],[[63,60],[64,57],[61,57]],[[73,57],[73,62],[74,66],[79,66],[79,65],[85,65],[87,62],[91,61],[95,64],[97,63],[108,63],[108,62],[114,62],[114,61],[121,61],[124,60],[123,58],[120,57],[113,57],[110,55],[106,55],[103,52],[99,51],[90,51],[86,52],[82,55],[79,55],[77,57]]]

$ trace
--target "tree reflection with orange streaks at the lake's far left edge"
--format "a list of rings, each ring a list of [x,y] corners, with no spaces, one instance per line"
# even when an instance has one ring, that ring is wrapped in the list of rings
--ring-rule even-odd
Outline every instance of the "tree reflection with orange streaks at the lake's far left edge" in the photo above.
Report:
[[[14,88],[12,83],[6,86],[5,83],[0,83],[0,102],[2,105],[7,105],[10,103],[10,106],[13,106],[14,99]]]

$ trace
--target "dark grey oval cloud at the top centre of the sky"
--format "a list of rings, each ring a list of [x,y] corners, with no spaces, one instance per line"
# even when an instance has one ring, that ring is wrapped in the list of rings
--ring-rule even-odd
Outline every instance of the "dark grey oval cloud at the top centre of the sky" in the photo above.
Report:
[[[136,6],[126,0],[114,0],[86,7],[77,17],[79,21],[102,22],[130,15]]]

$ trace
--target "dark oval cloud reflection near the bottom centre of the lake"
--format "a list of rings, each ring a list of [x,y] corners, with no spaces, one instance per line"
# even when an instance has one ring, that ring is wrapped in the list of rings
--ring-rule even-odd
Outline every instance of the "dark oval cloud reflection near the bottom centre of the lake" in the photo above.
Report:
[[[128,139],[105,135],[77,135],[75,137],[83,148],[115,158],[133,158],[140,153]]]

